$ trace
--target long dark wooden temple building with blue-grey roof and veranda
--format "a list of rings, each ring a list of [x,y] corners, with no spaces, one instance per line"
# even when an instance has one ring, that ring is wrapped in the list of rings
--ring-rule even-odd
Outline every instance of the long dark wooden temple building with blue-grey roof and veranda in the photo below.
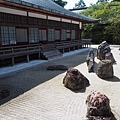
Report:
[[[97,21],[52,0],[1,0],[0,66],[79,49],[83,24]]]

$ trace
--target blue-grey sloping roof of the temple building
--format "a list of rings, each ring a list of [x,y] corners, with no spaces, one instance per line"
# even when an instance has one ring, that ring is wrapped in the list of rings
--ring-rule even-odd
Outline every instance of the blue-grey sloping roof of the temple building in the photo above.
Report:
[[[31,7],[35,7],[35,8],[40,8],[40,9],[51,11],[54,13],[71,16],[74,18],[79,18],[84,21],[90,21],[90,22],[98,21],[98,19],[90,18],[90,17],[84,16],[84,15],[77,14],[75,12],[66,10],[63,7],[57,5],[52,0],[6,0],[6,1],[15,2],[18,4],[23,4],[23,5],[31,6]]]

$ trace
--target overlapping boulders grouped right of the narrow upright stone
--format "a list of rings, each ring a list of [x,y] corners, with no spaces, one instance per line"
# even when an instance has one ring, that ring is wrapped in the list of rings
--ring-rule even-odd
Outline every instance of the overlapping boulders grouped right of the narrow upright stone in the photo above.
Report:
[[[113,63],[115,59],[111,53],[110,46],[106,41],[103,41],[97,50],[97,58],[101,60],[98,63],[96,74],[100,78],[111,78],[114,76]]]

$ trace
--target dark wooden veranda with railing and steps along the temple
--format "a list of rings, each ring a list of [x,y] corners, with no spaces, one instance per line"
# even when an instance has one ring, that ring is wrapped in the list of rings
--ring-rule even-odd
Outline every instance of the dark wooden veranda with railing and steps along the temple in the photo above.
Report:
[[[17,61],[29,62],[33,59],[51,60],[60,57],[64,52],[89,47],[90,45],[91,39],[83,39],[81,41],[65,41],[51,44],[37,43],[31,45],[0,47],[0,66],[7,64],[14,65]]]

